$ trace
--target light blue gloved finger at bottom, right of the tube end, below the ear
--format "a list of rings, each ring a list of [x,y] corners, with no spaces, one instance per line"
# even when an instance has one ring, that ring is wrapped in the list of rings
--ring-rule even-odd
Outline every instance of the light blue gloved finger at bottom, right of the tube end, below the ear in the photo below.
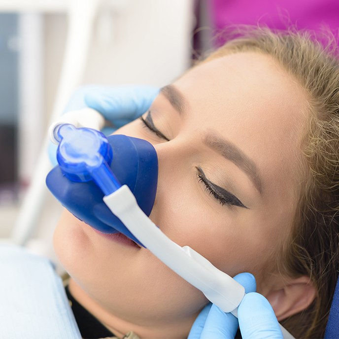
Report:
[[[244,296],[238,307],[238,321],[243,339],[283,339],[269,301],[259,293]]]

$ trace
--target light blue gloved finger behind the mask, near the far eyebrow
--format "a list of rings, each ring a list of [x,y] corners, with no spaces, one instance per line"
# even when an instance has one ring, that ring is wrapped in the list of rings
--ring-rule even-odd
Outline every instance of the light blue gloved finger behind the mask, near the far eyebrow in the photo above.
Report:
[[[158,94],[159,89],[151,86],[101,86],[89,91],[85,102],[114,123],[117,119],[135,120],[147,111]]]

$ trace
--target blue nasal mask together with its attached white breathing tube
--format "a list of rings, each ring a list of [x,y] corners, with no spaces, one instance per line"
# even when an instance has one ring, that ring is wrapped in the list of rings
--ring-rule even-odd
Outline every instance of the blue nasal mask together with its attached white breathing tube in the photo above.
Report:
[[[237,316],[244,288],[191,247],[173,242],[161,231],[161,225],[158,228],[148,218],[158,181],[154,147],[146,140],[121,135],[105,137],[87,128],[102,127],[103,118],[94,110],[67,114],[67,119],[64,116],[49,132],[59,144],[59,165],[46,179],[54,196],[97,230],[121,232],[144,246],[139,250],[152,252],[209,301]],[[77,128],[81,126],[86,128]]]

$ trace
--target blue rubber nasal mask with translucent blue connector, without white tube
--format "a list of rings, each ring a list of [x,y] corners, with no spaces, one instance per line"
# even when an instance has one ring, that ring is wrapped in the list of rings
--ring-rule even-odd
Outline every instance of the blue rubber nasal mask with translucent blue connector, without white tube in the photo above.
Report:
[[[103,233],[121,232],[141,244],[102,199],[114,188],[127,185],[149,216],[158,182],[158,158],[152,144],[130,136],[105,137],[101,132],[69,124],[60,125],[54,133],[60,140],[59,166],[47,175],[49,190],[86,224]],[[113,174],[110,178],[108,169]]]

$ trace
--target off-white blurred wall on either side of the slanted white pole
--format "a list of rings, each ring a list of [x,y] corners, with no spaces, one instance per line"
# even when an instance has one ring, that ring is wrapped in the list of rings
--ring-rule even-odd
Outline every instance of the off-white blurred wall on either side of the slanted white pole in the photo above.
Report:
[[[124,1],[120,1],[124,3]],[[190,64],[193,0],[127,0],[99,10],[83,84],[162,86]],[[50,112],[67,34],[66,14],[45,15],[45,107]]]

